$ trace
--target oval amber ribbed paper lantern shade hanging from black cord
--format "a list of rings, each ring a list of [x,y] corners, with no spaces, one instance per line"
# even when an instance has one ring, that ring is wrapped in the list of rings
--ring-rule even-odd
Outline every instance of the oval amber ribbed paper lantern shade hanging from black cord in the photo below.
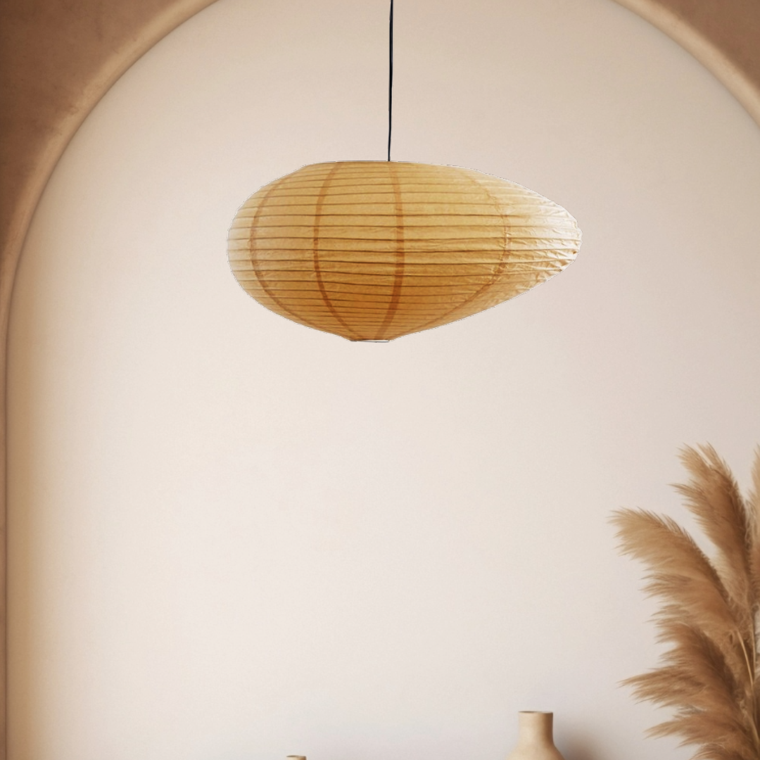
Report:
[[[273,312],[349,340],[392,340],[482,312],[573,261],[575,219],[456,166],[315,163],[240,208],[230,264]]]

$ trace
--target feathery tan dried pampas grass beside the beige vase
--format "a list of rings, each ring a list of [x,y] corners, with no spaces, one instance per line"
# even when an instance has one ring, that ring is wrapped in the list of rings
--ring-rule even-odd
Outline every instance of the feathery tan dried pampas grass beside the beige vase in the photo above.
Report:
[[[760,758],[760,448],[746,499],[711,446],[685,448],[691,480],[676,486],[714,546],[708,557],[675,521],[644,510],[615,513],[623,553],[648,568],[660,600],[660,667],[624,682],[635,698],[672,708],[651,736],[679,736],[693,760]]]

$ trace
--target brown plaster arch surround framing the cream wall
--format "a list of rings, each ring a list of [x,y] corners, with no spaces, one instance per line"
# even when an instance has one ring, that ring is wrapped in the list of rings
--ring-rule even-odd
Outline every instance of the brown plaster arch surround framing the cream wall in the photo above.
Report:
[[[213,0],[46,0],[2,6],[2,283],[0,353],[14,272],[36,204],[68,141],[119,76],[150,47]],[[692,52],[760,124],[760,6],[745,0],[618,0]],[[0,423],[5,420],[2,392]],[[5,439],[0,443],[5,462]],[[2,473],[5,483],[5,472]],[[5,515],[2,487],[0,515]],[[5,562],[0,560],[0,572]],[[5,581],[0,578],[0,587]],[[5,604],[0,609],[5,636]],[[0,667],[5,669],[5,658]],[[5,716],[0,673],[0,714]],[[2,727],[5,736],[5,724]],[[0,757],[5,741],[0,739]]]

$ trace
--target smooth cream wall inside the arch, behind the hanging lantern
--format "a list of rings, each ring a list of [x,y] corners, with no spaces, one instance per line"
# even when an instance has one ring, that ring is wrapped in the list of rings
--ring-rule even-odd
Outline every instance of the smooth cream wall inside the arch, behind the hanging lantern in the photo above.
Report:
[[[11,317],[12,760],[686,758],[618,505],[760,439],[760,131],[603,0],[396,9],[394,159],[565,205],[533,293],[357,346],[248,299],[226,227],[382,159],[385,2],[220,0],[74,138]]]

